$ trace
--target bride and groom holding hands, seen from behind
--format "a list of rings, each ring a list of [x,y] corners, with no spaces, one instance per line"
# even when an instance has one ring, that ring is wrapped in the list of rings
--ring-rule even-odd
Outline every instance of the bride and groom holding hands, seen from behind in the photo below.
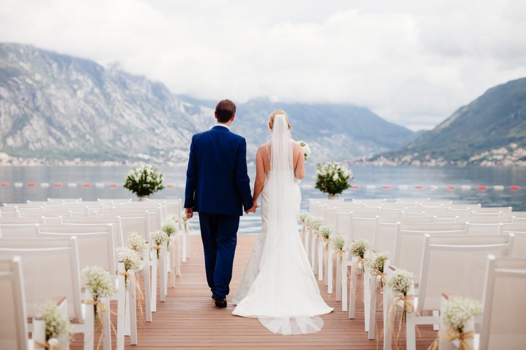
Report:
[[[199,212],[208,285],[217,307],[226,307],[239,217],[255,213],[261,196],[262,227],[232,303],[232,314],[258,318],[273,333],[321,330],[323,301],[298,233],[305,177],[304,152],[294,142],[284,111],[272,112],[271,141],[256,153],[254,194],[247,174],[247,143],[230,131],[236,105],[216,106],[217,125],[193,136],[185,191],[187,218]]]

